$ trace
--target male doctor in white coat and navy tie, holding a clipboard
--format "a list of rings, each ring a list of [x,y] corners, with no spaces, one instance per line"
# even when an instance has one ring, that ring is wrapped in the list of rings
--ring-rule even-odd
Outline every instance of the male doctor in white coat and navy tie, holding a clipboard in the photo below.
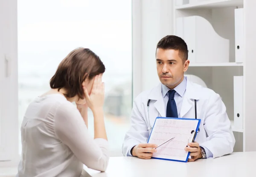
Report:
[[[232,153],[235,138],[221,97],[184,77],[189,67],[185,41],[174,35],[162,38],[157,44],[156,62],[161,83],[134,100],[123,155],[151,158],[157,145],[147,141],[157,116],[201,119],[195,142],[188,144],[190,148],[184,147],[191,152],[189,161]]]

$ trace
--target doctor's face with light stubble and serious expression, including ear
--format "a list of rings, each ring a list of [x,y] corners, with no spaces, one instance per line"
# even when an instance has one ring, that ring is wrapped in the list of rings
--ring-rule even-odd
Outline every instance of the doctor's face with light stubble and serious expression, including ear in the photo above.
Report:
[[[189,67],[189,60],[183,61],[179,51],[175,49],[160,49],[156,51],[157,74],[170,89],[175,88],[183,80],[184,72]]]

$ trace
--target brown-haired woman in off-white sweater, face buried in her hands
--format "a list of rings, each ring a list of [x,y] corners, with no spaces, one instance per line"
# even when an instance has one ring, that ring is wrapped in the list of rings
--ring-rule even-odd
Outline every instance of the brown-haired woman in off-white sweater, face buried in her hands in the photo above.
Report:
[[[61,61],[50,80],[52,89],[26,110],[17,177],[80,177],[83,164],[105,171],[109,152],[104,72],[104,64],[90,49],[75,49]],[[94,139],[87,129],[87,107],[93,112]]]

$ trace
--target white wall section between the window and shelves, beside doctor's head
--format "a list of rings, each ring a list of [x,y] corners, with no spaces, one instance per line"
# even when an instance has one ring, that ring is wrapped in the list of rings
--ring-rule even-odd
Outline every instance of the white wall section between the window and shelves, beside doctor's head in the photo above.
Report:
[[[161,38],[173,34],[172,4],[172,0],[133,0],[134,97],[160,82],[155,50]]]

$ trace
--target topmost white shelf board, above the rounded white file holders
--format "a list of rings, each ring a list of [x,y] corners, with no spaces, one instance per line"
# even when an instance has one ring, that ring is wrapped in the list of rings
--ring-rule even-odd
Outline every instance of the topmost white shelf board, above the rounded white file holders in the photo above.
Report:
[[[184,4],[181,6],[175,6],[175,9],[212,9],[221,7],[231,7],[231,6],[242,6],[243,0],[204,0],[194,4]]]

